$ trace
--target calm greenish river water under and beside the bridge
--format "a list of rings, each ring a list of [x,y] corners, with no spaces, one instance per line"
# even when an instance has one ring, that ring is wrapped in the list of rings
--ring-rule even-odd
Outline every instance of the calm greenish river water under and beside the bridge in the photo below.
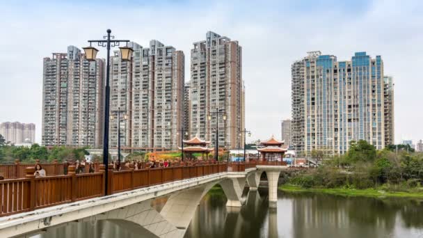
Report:
[[[343,197],[278,191],[278,208],[267,191],[244,191],[246,205],[226,207],[221,189],[202,199],[186,238],[211,237],[423,237],[423,201],[406,198]],[[160,209],[162,203],[155,204]],[[35,237],[148,237],[124,223],[70,223]]]

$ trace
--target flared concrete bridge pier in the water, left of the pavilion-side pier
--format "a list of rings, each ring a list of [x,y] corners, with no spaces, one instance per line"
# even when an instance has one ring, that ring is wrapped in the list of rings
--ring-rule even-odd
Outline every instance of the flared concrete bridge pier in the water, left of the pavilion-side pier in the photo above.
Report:
[[[225,192],[228,207],[241,207],[241,196],[246,186],[245,177],[228,178],[220,182],[223,192]]]

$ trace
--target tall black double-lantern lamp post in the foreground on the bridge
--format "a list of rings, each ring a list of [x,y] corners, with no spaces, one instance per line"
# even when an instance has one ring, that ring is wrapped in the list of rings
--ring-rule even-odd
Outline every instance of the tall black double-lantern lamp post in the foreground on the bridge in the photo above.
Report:
[[[98,49],[92,47],[92,43],[97,43],[99,47],[106,47],[107,59],[106,59],[106,90],[104,95],[104,136],[103,136],[103,164],[106,166],[104,172],[104,195],[107,195],[108,186],[108,172],[109,172],[109,111],[110,111],[110,48],[119,46],[121,42],[125,42],[125,47],[120,48],[120,54],[122,61],[130,61],[132,56],[132,49],[128,47],[129,40],[115,40],[114,35],[110,35],[111,30],[107,29],[107,35],[103,36],[103,40],[88,40],[90,43],[89,47],[84,47],[86,59],[88,61],[95,61]]]

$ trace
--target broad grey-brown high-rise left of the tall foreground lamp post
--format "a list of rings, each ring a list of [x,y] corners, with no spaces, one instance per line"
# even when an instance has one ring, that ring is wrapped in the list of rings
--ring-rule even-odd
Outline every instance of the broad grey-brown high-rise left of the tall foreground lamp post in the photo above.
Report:
[[[44,58],[42,145],[102,145],[104,60],[81,50]]]

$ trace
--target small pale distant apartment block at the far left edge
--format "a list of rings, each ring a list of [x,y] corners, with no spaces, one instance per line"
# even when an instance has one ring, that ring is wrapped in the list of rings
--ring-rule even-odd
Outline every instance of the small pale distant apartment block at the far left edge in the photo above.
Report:
[[[35,124],[20,122],[3,122],[0,124],[0,134],[6,142],[12,144],[35,142]]]

